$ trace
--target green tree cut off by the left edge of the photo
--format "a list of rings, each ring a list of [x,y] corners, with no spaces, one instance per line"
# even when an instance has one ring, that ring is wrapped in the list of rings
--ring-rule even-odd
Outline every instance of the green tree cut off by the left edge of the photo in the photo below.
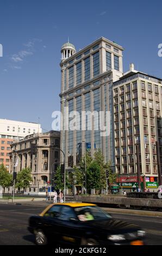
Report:
[[[13,175],[8,173],[7,168],[5,168],[4,164],[2,163],[0,166],[0,186],[3,187],[3,191],[5,192],[5,187],[10,187],[11,182],[13,180]]]

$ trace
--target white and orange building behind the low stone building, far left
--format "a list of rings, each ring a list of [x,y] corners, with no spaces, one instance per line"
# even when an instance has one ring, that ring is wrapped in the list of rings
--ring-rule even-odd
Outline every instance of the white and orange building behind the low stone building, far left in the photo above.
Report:
[[[0,164],[9,170],[11,142],[36,132],[41,132],[40,124],[0,119]]]

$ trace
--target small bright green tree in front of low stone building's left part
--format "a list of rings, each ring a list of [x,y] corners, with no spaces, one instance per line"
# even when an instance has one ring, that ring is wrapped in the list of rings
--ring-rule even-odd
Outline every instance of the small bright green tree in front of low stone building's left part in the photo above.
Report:
[[[21,189],[23,189],[24,191],[27,187],[30,186],[30,182],[33,181],[31,172],[31,169],[28,167],[22,169],[21,172],[17,173],[15,187],[18,188],[18,191],[20,191]]]

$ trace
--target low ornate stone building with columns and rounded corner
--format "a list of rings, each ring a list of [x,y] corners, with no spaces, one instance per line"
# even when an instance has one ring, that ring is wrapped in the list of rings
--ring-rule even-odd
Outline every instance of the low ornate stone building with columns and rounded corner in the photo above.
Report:
[[[31,154],[31,144],[36,144],[35,155]],[[23,168],[32,170],[33,182],[27,192],[38,193],[45,190],[52,173],[60,165],[60,132],[34,133],[11,143],[10,173],[21,172]]]

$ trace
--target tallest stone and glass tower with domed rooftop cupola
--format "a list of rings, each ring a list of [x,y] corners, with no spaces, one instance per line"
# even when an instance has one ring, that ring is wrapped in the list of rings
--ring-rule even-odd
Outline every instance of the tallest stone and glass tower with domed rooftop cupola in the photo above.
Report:
[[[101,149],[105,161],[114,161],[113,132],[113,82],[123,75],[123,48],[113,41],[99,38],[92,44],[76,51],[74,45],[67,42],[61,47],[61,113],[65,120],[71,111],[109,111],[110,135],[101,137],[96,130],[94,120],[92,129],[85,121],[85,130],[66,130],[65,122],[61,129],[61,149],[66,155],[66,170],[70,172],[72,165],[78,166],[80,157],[85,155],[85,149],[94,155],[96,149]],[[68,118],[69,119],[69,118]],[[69,119],[70,120],[70,119]],[[77,120],[82,123],[81,120]],[[108,126],[105,123],[105,126]],[[63,155],[61,154],[61,161]]]

